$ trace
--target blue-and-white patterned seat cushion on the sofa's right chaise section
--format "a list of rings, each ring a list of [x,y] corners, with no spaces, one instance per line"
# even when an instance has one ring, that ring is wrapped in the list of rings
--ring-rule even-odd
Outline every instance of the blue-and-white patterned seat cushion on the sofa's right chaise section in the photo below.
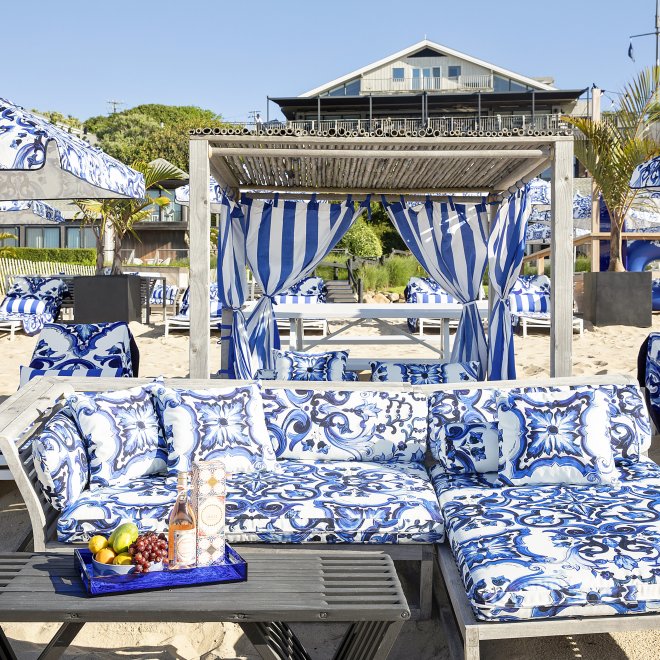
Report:
[[[493,486],[431,468],[477,618],[660,611],[660,467],[623,461],[616,486]]]

